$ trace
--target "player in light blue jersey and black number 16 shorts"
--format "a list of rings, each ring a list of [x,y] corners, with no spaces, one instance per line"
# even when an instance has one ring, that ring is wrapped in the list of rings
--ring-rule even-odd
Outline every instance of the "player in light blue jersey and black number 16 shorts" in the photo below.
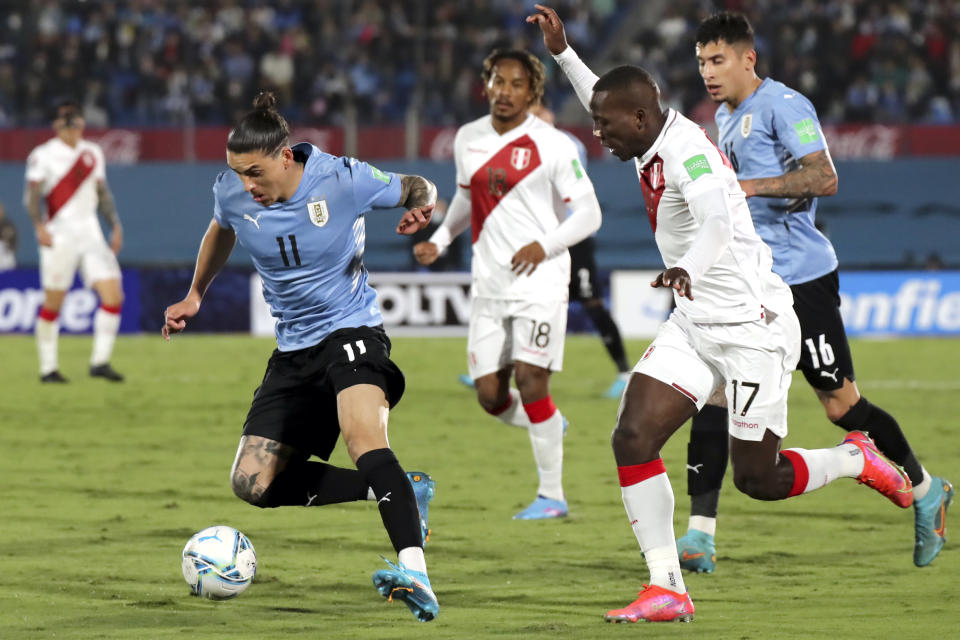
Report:
[[[790,285],[801,326],[798,368],[827,417],[846,429],[869,431],[878,448],[913,482],[916,540],[913,560],[930,564],[943,546],[953,488],[931,477],[896,419],[860,395],[840,316],[837,256],[817,230],[817,198],[837,191],[837,174],[817,112],[802,94],[760,78],[753,29],[737,13],[719,13],[697,31],[697,61],[707,93],[718,103],[720,147],[748,197],[754,225],[773,251],[773,270]],[[678,540],[686,569],[710,572],[720,486],[727,464],[727,414],[707,406],[693,420],[688,449],[688,532]]]

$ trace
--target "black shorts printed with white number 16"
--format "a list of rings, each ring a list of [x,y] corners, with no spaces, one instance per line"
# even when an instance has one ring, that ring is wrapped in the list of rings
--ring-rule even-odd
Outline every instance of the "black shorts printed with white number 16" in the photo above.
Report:
[[[800,362],[814,389],[836,391],[843,379],[855,380],[847,332],[840,317],[840,278],[837,270],[790,287],[793,309],[800,320]]]

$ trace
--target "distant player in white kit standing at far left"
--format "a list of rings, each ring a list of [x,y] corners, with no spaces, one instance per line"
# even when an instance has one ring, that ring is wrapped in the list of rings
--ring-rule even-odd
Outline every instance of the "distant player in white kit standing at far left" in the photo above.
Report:
[[[78,268],[84,284],[100,297],[100,308],[93,316],[90,375],[123,381],[110,366],[123,306],[116,256],[123,246],[123,228],[107,186],[103,151],[83,139],[84,126],[77,103],[61,102],[53,119],[57,135],[27,158],[24,205],[37,233],[43,286],[43,305],[34,330],[41,382],[67,382],[58,364],[57,319]],[[97,219],[98,209],[112,228],[109,246]]]

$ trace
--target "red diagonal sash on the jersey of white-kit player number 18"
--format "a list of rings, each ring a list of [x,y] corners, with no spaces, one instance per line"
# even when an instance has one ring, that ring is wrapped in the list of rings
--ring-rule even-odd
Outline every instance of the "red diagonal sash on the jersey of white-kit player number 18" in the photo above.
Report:
[[[500,201],[540,166],[540,152],[529,135],[513,140],[470,177],[470,225],[473,242]]]

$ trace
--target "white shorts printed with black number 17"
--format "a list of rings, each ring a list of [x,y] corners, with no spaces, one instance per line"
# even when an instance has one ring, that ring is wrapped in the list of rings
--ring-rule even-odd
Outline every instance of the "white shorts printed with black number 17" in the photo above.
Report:
[[[730,435],[758,441],[787,435],[787,395],[800,359],[800,323],[790,309],[752,322],[697,324],[676,310],[633,368],[702,409],[724,385]]]

